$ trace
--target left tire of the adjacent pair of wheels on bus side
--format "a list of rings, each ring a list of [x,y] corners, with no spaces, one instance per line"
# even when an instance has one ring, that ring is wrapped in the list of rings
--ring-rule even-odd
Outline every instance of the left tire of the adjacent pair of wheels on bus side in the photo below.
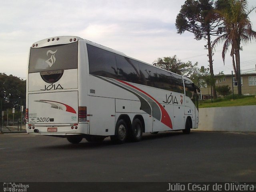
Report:
[[[126,141],[127,134],[127,124],[123,119],[120,119],[116,123],[115,135],[110,136],[110,139],[114,144],[122,144]]]

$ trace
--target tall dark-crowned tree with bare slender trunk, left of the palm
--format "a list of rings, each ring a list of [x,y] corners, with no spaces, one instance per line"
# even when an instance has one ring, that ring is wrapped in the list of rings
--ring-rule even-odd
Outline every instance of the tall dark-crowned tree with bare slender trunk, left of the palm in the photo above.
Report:
[[[180,13],[176,17],[176,28],[179,34],[185,31],[194,33],[196,40],[205,38],[207,40],[208,57],[210,63],[210,75],[214,78],[211,36],[221,33],[221,20],[214,11],[216,3],[214,0],[186,0],[181,6]],[[214,98],[217,98],[215,83],[213,86]]]

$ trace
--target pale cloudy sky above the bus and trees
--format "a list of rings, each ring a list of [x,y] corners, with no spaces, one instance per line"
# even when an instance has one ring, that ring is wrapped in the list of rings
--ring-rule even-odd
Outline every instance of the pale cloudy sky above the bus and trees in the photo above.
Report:
[[[54,36],[79,36],[152,64],[174,56],[208,67],[205,40],[178,34],[177,14],[185,0],[8,0],[0,6],[0,73],[26,78],[29,48]],[[256,0],[248,0],[248,8]],[[250,14],[256,31],[256,12]],[[212,38],[214,40],[214,38]],[[232,58],[222,60],[222,45],[213,56],[214,74],[231,74]],[[256,68],[256,40],[243,46],[241,69]]]

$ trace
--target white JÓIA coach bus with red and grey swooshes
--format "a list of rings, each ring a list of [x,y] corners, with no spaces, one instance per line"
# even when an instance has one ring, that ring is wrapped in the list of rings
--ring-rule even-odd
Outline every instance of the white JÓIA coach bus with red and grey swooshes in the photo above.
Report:
[[[76,36],[31,46],[26,90],[28,134],[124,143],[198,127],[200,90],[189,78]]]

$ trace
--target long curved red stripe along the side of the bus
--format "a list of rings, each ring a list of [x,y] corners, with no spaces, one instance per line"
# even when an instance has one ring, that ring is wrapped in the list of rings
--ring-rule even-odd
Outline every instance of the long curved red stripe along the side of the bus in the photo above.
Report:
[[[158,106],[160,107],[160,110],[162,112],[161,122],[172,129],[172,120],[171,120],[169,114],[167,113],[167,111],[164,109],[164,107],[155,98],[153,98],[151,95],[149,95],[148,93],[144,92],[140,88],[133,86],[132,84],[129,84],[129,83],[124,82],[122,80],[118,80],[118,81],[123,83],[123,84],[126,84],[126,85],[128,85],[128,86],[130,86],[130,87],[132,87],[132,88],[134,88],[134,89],[136,89],[136,90],[138,90],[138,91],[140,91],[142,93],[144,93],[146,96],[148,96],[152,100],[154,100],[156,102],[156,104],[158,104]]]

